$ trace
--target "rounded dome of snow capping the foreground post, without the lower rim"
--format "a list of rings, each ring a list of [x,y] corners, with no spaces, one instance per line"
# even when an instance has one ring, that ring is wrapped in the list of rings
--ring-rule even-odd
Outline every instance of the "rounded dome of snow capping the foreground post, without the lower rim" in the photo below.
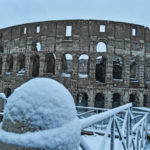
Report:
[[[60,83],[36,78],[21,85],[7,99],[4,118],[11,122],[30,121],[41,129],[60,127],[76,118],[74,100]]]

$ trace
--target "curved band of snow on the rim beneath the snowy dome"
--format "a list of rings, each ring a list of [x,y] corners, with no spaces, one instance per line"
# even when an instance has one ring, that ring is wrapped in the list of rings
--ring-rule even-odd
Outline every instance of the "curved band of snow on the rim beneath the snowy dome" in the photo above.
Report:
[[[32,148],[54,148],[67,145],[67,150],[77,150],[80,142],[80,124],[74,119],[59,128],[43,130],[38,132],[27,132],[24,134],[9,133],[2,130],[0,126],[0,141],[7,144],[15,144]],[[64,148],[63,148],[64,149]]]

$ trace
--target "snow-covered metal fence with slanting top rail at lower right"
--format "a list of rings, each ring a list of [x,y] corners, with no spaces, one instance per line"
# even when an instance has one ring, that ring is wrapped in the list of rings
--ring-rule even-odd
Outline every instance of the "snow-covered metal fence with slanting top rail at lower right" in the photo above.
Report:
[[[134,114],[138,114],[138,116],[136,117],[132,114],[132,104],[129,103],[81,119],[82,129],[84,130],[94,124],[101,124],[105,121],[106,128],[103,139],[100,141],[100,150],[108,150],[108,146],[106,147],[107,140],[110,140],[110,150],[118,150],[118,147],[115,145],[116,136],[119,137],[122,150],[143,150],[147,141],[148,114],[140,112],[134,112]],[[81,140],[81,147],[83,150],[91,149],[83,138]]]

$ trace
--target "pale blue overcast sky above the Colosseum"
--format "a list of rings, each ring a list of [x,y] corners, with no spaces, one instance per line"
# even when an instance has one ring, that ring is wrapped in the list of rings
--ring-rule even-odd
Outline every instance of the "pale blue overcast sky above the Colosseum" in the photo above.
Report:
[[[150,27],[150,0],[0,0],[0,28],[59,19],[99,19]]]

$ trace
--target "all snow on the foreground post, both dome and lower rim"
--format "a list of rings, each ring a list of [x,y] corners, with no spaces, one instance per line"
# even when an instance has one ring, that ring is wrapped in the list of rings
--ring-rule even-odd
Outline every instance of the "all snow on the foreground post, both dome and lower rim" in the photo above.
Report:
[[[26,122],[42,130],[16,134],[0,129],[0,141],[26,147],[79,146],[81,124],[72,95],[60,83],[35,78],[14,90],[7,99],[4,119]],[[60,147],[61,149],[61,147]]]

